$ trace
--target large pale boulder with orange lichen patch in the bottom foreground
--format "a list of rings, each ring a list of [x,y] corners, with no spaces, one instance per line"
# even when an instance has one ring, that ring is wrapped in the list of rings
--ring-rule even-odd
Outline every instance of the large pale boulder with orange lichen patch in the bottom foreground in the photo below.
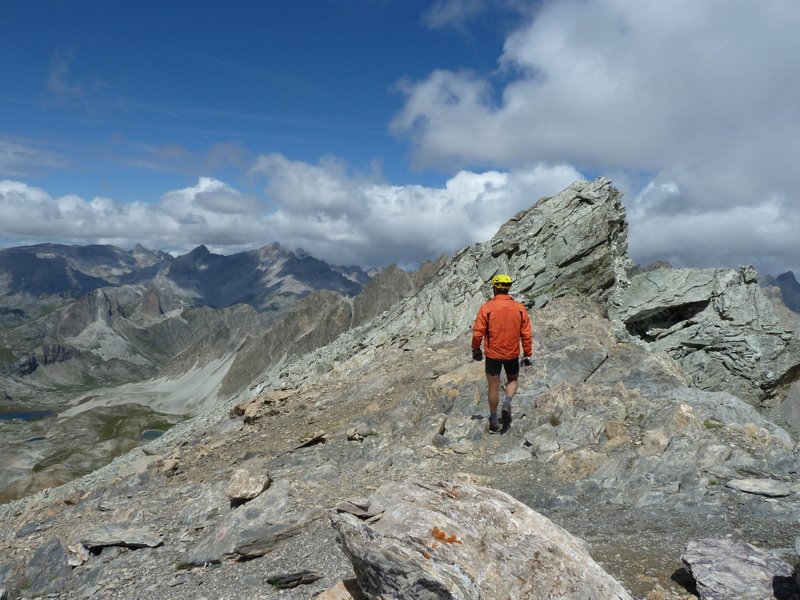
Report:
[[[372,526],[330,516],[368,598],[631,598],[577,538],[497,490],[411,480],[372,498],[386,508]]]

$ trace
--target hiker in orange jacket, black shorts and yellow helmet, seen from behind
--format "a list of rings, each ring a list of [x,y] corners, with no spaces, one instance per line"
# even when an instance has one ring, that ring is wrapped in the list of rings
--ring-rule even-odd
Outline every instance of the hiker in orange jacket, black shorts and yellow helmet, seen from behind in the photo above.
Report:
[[[511,277],[492,277],[494,297],[481,306],[472,327],[472,358],[483,360],[481,341],[486,352],[486,379],[489,382],[489,433],[505,432],[511,426],[511,401],[517,391],[519,377],[519,345],[522,342],[522,364],[531,365],[531,320],[528,311],[508,292]],[[497,419],[500,401],[500,371],[506,372],[505,398],[501,421]]]

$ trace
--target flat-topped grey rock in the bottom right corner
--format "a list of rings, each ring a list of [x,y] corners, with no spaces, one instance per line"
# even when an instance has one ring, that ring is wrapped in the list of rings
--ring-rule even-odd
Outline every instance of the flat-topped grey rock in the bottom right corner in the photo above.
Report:
[[[703,600],[800,597],[792,566],[746,542],[730,538],[692,541],[681,560]]]

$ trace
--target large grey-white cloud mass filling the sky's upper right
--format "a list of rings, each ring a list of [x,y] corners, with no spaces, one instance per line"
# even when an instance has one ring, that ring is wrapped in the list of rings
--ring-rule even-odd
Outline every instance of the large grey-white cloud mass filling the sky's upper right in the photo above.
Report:
[[[627,195],[637,260],[666,258],[657,228],[680,233],[685,265],[796,268],[800,236],[760,230],[796,222],[798,26],[786,0],[544,2],[496,73],[406,82],[392,129],[423,167],[567,163],[639,182]],[[653,202],[658,189],[673,192]]]

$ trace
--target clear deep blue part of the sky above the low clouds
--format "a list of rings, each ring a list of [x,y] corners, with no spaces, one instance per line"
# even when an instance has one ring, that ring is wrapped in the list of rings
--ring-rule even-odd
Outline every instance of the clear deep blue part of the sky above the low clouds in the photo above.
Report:
[[[18,165],[27,181],[86,198],[153,200],[199,175],[236,177],[227,163],[270,151],[355,169],[377,160],[398,183],[435,181],[410,174],[408,148],[388,135],[398,81],[460,68],[464,56],[491,70],[504,38],[501,21],[431,30],[426,7],[12,3],[0,40],[13,82],[0,98],[3,134],[59,163]]]

